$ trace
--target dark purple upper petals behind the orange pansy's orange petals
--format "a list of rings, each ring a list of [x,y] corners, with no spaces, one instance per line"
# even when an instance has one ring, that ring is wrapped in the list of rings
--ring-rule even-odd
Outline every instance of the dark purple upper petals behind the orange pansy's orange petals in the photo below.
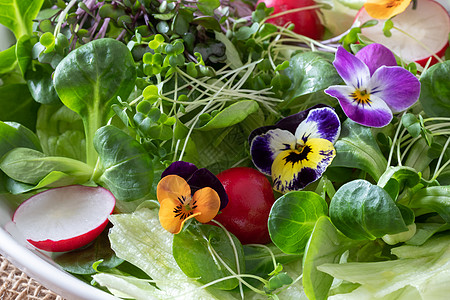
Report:
[[[222,210],[228,204],[228,195],[225,192],[220,180],[206,168],[197,168],[194,164],[185,161],[173,162],[161,174],[161,179],[168,175],[178,175],[188,183],[192,195],[196,191],[210,187],[217,192],[220,198],[220,208]]]

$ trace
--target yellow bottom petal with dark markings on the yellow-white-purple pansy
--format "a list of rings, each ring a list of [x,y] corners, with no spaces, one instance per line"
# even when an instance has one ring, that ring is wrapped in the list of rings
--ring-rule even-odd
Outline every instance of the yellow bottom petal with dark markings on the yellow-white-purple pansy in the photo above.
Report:
[[[301,151],[281,152],[272,166],[274,189],[281,193],[303,189],[322,176],[335,155],[333,144],[325,139],[309,139]]]

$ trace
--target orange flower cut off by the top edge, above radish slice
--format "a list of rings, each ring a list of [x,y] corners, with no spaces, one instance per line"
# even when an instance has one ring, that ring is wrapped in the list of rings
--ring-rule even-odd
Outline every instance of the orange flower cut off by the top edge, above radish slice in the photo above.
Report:
[[[390,19],[405,11],[411,0],[367,0],[364,4],[369,16],[374,19]]]

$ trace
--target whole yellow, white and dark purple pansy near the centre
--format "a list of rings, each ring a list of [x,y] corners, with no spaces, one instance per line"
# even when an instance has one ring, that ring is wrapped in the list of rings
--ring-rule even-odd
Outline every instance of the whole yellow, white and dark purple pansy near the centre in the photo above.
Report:
[[[254,130],[249,137],[256,168],[275,190],[301,190],[319,179],[336,155],[341,123],[334,110],[318,105]]]

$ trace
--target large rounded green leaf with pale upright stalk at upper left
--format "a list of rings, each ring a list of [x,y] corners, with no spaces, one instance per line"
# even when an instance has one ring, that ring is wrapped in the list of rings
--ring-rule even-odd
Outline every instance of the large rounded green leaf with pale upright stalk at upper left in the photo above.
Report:
[[[95,131],[112,116],[117,96],[127,99],[134,88],[136,68],[128,48],[114,39],[94,40],[67,55],[55,70],[53,82],[61,101],[78,113],[86,134],[87,163],[97,157]]]

